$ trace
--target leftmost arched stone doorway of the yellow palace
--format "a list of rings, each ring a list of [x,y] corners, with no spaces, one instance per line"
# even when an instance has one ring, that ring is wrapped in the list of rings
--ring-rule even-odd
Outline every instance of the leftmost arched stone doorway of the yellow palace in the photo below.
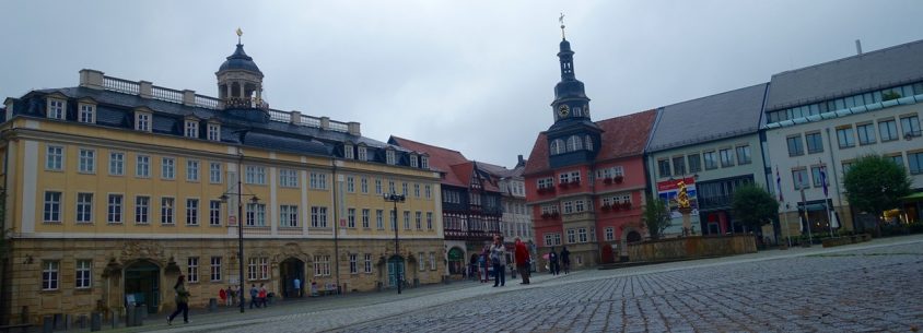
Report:
[[[157,313],[161,304],[161,269],[148,260],[125,267],[126,301],[148,306],[148,313]]]

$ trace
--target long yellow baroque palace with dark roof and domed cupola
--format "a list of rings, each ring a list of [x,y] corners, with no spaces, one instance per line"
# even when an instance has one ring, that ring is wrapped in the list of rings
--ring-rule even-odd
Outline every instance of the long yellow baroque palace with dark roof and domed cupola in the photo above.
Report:
[[[269,108],[243,45],[215,74],[218,98],[82,70],[5,100],[1,322],[171,310],[180,274],[205,307],[242,287],[241,245],[277,299],[441,282],[429,156]]]

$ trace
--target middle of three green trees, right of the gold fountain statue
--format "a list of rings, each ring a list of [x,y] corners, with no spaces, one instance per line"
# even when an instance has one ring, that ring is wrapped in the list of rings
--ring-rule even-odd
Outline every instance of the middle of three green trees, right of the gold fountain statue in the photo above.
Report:
[[[763,188],[748,183],[734,190],[731,202],[735,219],[756,230],[779,216],[779,202]]]

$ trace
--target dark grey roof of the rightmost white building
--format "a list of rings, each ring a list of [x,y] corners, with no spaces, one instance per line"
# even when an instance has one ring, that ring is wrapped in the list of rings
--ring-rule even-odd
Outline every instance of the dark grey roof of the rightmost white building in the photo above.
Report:
[[[766,110],[813,104],[923,80],[923,40],[772,75]]]

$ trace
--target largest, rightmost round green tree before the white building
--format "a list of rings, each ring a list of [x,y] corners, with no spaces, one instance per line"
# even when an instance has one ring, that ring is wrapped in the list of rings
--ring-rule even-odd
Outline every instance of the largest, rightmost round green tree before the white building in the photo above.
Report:
[[[911,193],[912,182],[903,166],[880,155],[860,157],[843,175],[850,205],[875,216],[897,207],[900,199]]]

